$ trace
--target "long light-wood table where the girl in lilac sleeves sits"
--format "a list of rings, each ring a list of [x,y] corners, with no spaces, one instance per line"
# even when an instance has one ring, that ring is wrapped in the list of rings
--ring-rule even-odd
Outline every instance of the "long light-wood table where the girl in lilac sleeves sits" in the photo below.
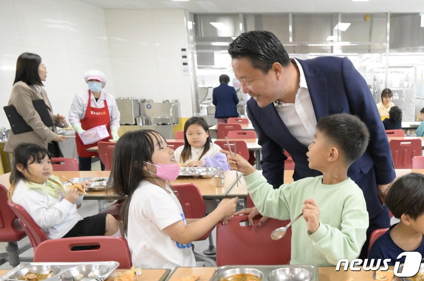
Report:
[[[215,179],[204,179],[202,177],[193,176],[179,176],[175,181],[171,182],[171,185],[178,185],[184,183],[194,183],[199,187],[199,190],[205,199],[222,199],[231,188],[236,185],[237,176],[236,171],[223,171],[225,174],[224,187],[216,187]],[[73,178],[107,178],[109,177],[110,171],[53,171],[55,176],[59,176],[62,182],[65,182],[63,176],[67,179]],[[6,188],[10,187],[9,183],[10,173],[0,175],[0,184]],[[112,191],[87,191],[87,195],[84,195],[84,200],[104,200],[104,199],[124,199],[123,196],[118,196]]]

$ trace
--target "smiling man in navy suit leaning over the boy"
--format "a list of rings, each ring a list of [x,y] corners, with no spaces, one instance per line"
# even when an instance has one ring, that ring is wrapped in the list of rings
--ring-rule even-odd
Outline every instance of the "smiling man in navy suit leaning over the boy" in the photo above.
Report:
[[[306,152],[322,117],[350,113],[367,125],[368,148],[348,170],[367,204],[369,228],[360,254],[366,258],[371,232],[390,227],[382,195],[396,175],[388,138],[363,77],[348,58],[290,58],[268,31],[241,34],[228,52],[235,76],[252,97],[247,104],[248,116],[262,146],[263,175],[274,188],[283,184],[284,149],[295,163],[294,180],[321,174],[309,168]],[[256,208],[239,213],[248,213],[249,220],[258,214]]]

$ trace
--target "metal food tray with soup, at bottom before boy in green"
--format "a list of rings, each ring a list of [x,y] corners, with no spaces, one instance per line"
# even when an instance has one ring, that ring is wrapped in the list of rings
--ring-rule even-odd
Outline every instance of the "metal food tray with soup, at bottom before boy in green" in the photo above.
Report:
[[[227,270],[236,269],[236,268],[254,268],[256,270],[259,270],[263,273],[264,277],[261,281],[268,281],[268,274],[271,273],[271,271],[283,268],[283,267],[298,267],[303,268],[306,270],[309,270],[312,273],[312,279],[311,281],[318,281],[318,267],[312,266],[312,265],[226,265],[221,266],[215,269],[215,272],[212,275],[212,278],[209,279],[209,281],[219,281],[221,277],[224,277],[224,273]]]

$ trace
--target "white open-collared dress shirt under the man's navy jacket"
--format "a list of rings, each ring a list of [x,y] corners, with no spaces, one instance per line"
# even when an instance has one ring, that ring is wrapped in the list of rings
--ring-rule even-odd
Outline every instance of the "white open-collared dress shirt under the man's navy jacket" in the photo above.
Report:
[[[296,63],[300,73],[295,102],[286,103],[276,100],[274,105],[290,133],[304,146],[309,146],[314,140],[317,119],[302,66],[295,58],[291,60]]]

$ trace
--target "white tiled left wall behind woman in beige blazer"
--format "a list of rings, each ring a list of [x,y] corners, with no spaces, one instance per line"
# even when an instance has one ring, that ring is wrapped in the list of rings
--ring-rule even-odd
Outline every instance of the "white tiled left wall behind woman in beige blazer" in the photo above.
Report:
[[[88,69],[103,71],[105,91],[114,94],[102,8],[78,0],[1,0],[0,27],[0,127],[9,127],[2,108],[22,52],[40,55],[47,66],[44,84],[55,113],[68,115],[74,94],[87,88]]]

